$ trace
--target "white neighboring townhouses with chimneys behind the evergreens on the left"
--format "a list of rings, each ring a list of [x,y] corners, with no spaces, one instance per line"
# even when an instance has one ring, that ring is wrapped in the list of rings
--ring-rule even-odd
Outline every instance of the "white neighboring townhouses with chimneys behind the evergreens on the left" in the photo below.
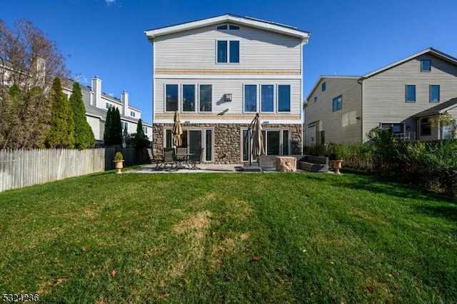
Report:
[[[63,81],[64,93],[69,97],[74,81],[66,79]],[[123,91],[121,98],[116,98],[101,91],[101,79],[95,76],[91,81],[92,86],[81,86],[83,93],[84,106],[86,107],[86,118],[94,132],[97,144],[103,143],[105,131],[106,113],[108,108],[119,108],[121,113],[122,129],[127,129],[128,133],[136,133],[136,126],[141,118],[141,110],[129,104],[129,93]],[[152,140],[152,126],[145,121],[141,121],[143,131]]]

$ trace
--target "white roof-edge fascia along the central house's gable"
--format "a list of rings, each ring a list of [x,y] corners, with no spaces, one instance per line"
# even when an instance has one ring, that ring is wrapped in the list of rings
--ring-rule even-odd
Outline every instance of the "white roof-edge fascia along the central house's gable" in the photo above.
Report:
[[[255,27],[258,29],[263,29],[266,31],[274,31],[276,33],[284,34],[287,36],[293,36],[301,39],[303,43],[308,42],[308,38],[311,35],[306,31],[300,31],[294,29],[291,26],[281,26],[280,24],[270,23],[268,21],[260,21],[251,18],[243,18],[241,16],[235,16],[231,14],[226,14],[222,16],[216,16],[207,19],[201,19],[197,21],[186,22],[184,24],[176,24],[174,26],[166,26],[160,29],[151,29],[149,31],[144,31],[144,34],[148,37],[149,41],[154,41],[156,37],[164,36],[168,34],[177,33],[180,31],[189,31],[190,29],[197,29],[204,26],[210,26],[212,24],[219,24],[222,22],[233,22],[234,24],[246,25]]]

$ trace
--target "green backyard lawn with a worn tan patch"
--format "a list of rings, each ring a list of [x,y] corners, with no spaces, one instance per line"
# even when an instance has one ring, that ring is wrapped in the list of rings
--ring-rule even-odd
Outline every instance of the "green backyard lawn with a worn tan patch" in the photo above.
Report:
[[[0,193],[0,295],[451,303],[457,205],[348,173],[122,174]]]

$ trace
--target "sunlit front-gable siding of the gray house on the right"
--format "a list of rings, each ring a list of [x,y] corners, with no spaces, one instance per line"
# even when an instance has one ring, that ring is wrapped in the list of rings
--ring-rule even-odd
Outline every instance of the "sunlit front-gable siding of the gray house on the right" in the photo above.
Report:
[[[431,60],[431,71],[421,72],[421,60]],[[416,85],[416,102],[406,103],[406,84]],[[404,123],[419,133],[412,116],[435,106],[429,87],[440,86],[440,102],[457,96],[457,66],[429,54],[418,56],[363,81],[363,134],[380,123]],[[366,141],[366,136],[364,141]]]

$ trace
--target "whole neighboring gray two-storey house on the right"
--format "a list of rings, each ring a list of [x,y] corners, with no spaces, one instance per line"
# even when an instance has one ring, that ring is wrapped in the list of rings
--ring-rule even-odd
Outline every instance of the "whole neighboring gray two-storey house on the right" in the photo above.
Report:
[[[457,59],[432,48],[364,76],[321,76],[306,98],[305,145],[366,142],[376,126],[403,140],[446,138],[451,127],[428,118],[457,118],[456,97]]]

